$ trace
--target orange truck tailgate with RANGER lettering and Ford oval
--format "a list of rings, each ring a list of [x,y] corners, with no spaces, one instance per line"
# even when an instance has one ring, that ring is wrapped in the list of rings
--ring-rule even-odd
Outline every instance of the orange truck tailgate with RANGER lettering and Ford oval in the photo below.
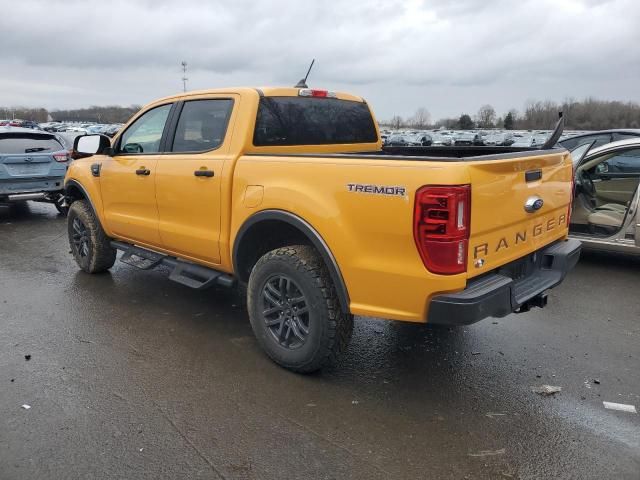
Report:
[[[568,152],[476,160],[469,162],[468,168],[468,277],[523,257],[567,234],[573,176]],[[541,201],[536,203],[537,199]],[[530,208],[525,208],[527,203]]]

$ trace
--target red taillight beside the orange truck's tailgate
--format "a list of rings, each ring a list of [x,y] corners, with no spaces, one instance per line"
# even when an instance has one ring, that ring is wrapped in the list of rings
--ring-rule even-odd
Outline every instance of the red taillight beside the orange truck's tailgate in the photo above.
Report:
[[[430,186],[416,192],[413,237],[424,266],[433,273],[467,271],[471,186]]]

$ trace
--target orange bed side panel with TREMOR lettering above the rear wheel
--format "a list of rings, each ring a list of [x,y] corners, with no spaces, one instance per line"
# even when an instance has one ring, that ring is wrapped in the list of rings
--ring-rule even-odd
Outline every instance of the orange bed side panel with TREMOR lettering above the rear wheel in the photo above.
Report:
[[[331,249],[352,313],[424,322],[430,297],[464,288],[466,274],[439,276],[424,267],[413,239],[414,195],[425,184],[464,183],[462,162],[246,155],[234,173],[231,245],[251,215],[293,213]],[[398,186],[406,194],[353,192],[349,184]],[[247,187],[256,185],[262,201],[245,202]]]

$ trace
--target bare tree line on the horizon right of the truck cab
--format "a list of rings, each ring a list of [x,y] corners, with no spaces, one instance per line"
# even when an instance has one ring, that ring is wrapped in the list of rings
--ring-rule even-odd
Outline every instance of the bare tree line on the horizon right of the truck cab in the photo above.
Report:
[[[565,128],[570,130],[605,130],[608,128],[640,128],[640,104],[586,98],[573,98],[558,103],[529,100],[524,110],[511,109],[498,115],[493,106],[480,107],[475,115],[462,113],[459,117],[441,118],[431,122],[429,111],[420,107],[408,118],[394,115],[380,124],[394,129],[401,128],[449,128],[471,130],[474,128],[501,128],[506,130],[548,130],[563,112]]]

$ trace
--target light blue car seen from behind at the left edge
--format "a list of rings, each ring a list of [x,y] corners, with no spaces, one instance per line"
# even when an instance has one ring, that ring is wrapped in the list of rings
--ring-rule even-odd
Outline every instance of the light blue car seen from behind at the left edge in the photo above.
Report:
[[[0,203],[50,202],[66,213],[62,190],[70,161],[54,133],[0,127]]]

